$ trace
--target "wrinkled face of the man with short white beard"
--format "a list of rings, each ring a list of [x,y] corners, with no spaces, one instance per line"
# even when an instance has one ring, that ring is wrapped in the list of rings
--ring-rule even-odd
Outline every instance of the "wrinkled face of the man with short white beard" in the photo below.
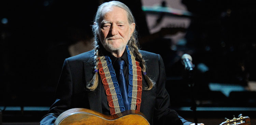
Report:
[[[100,41],[109,51],[124,51],[134,31],[135,23],[129,24],[127,12],[120,7],[111,6],[102,10],[103,20],[100,25]]]

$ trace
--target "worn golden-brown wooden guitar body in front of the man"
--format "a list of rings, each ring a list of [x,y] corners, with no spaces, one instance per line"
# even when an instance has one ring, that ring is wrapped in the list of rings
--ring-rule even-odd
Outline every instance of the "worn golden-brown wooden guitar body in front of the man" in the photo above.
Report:
[[[115,115],[104,115],[85,108],[69,109],[59,115],[54,125],[150,125],[145,116],[136,110]]]

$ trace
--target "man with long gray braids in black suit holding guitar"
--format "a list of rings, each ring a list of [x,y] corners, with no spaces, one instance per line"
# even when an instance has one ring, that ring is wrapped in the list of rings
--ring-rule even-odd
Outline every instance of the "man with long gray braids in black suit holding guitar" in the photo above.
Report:
[[[98,7],[92,26],[94,50],[65,59],[56,101],[41,125],[54,124],[62,112],[72,108],[105,115],[137,110],[151,125],[194,124],[169,108],[163,60],[158,54],[138,49],[135,25],[122,2]]]

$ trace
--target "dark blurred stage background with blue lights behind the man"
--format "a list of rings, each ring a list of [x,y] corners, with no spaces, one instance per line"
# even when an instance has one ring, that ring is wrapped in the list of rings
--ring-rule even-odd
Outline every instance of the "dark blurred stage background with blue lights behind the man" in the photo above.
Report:
[[[220,124],[240,113],[255,120],[255,1],[120,1],[134,14],[141,50],[163,58],[172,108],[193,121],[194,97],[199,122]],[[90,25],[102,2],[1,0],[2,124],[38,124],[54,102],[64,59],[91,50]],[[193,88],[184,79],[184,53],[195,65]]]

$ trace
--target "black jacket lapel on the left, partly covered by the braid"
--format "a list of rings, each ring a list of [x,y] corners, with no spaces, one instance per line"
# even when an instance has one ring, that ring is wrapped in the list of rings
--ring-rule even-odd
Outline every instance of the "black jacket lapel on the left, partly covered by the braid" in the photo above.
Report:
[[[94,66],[93,66],[93,58],[90,58],[88,61],[84,61],[84,77],[85,83],[88,84],[94,75]],[[91,110],[98,111],[102,113],[101,106],[101,86],[100,80],[98,83],[98,87],[94,91],[87,91],[88,101]]]

